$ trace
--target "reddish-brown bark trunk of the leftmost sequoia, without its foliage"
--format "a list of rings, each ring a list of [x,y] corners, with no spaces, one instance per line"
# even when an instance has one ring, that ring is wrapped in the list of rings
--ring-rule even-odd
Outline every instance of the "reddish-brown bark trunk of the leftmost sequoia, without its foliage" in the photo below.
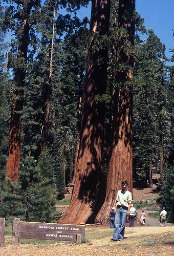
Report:
[[[21,115],[24,105],[24,88],[26,78],[27,52],[29,45],[29,15],[32,7],[32,1],[24,4],[23,18],[21,20],[20,31],[18,35],[18,54],[19,65],[15,68],[14,76],[14,99],[12,102],[10,132],[7,151],[7,164],[5,178],[12,181],[18,180],[19,162],[20,162],[20,136],[21,136]]]

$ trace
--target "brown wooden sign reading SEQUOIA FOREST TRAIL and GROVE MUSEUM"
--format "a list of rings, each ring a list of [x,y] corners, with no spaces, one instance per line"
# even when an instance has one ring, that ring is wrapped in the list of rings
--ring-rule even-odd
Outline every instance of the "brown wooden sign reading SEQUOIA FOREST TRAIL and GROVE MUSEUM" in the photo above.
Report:
[[[13,221],[12,244],[17,245],[19,238],[46,239],[55,241],[75,241],[84,239],[84,225]]]

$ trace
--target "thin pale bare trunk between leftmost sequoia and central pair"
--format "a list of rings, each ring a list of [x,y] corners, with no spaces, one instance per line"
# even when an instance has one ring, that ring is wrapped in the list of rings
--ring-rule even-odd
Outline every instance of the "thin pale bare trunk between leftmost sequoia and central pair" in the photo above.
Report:
[[[53,16],[53,33],[52,33],[52,40],[51,40],[51,52],[50,52],[50,71],[48,75],[48,86],[46,90],[46,108],[45,108],[45,118],[44,124],[42,126],[41,131],[41,143],[40,143],[40,152],[44,150],[47,145],[48,141],[48,131],[49,131],[49,117],[50,117],[50,97],[51,97],[51,87],[52,87],[52,73],[53,73],[53,43],[54,43],[54,26],[55,26],[55,13],[56,13],[56,6],[54,7],[54,16]]]

